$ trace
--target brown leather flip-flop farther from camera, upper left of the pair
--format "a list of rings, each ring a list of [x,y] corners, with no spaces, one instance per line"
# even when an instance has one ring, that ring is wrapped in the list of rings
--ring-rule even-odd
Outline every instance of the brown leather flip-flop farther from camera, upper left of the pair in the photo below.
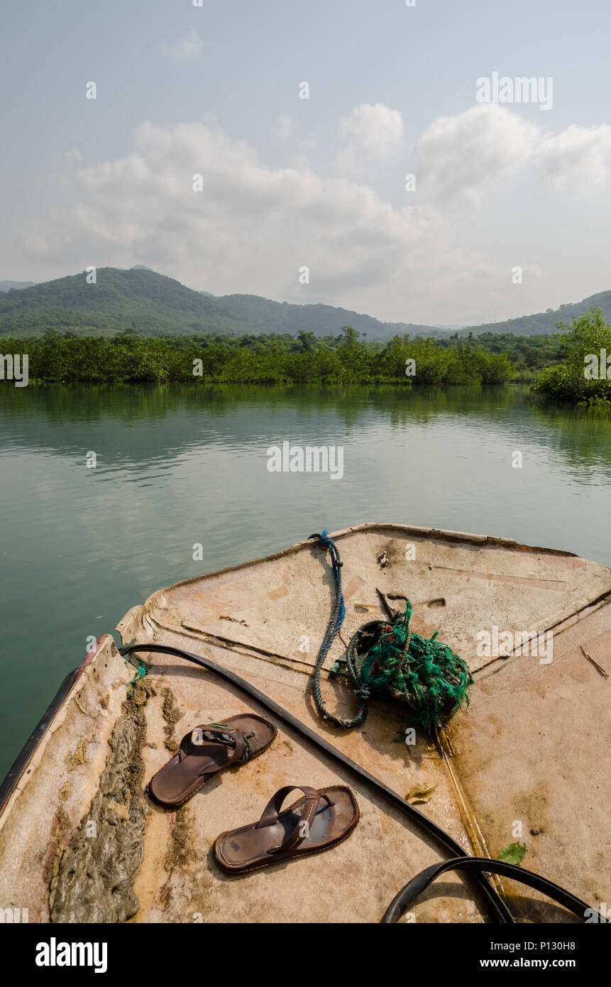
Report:
[[[211,775],[263,754],[276,733],[272,723],[254,713],[195,726],[181,740],[178,754],[153,775],[149,793],[161,805],[176,808]]]

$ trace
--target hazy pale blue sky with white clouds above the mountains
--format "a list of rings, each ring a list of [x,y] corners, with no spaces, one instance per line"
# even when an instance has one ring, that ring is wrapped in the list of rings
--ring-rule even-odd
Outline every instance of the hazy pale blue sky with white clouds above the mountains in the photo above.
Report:
[[[143,264],[432,324],[611,288],[608,0],[58,0],[2,20],[0,280]],[[513,102],[478,100],[495,72]],[[536,103],[517,77],[541,79]]]

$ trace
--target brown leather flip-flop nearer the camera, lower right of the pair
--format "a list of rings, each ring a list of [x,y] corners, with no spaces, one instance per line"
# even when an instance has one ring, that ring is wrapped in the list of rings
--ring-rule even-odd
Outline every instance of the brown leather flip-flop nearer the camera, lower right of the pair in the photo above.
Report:
[[[280,812],[294,789],[304,797]],[[221,833],[214,842],[214,856],[224,871],[255,871],[290,857],[330,850],[350,835],[358,818],[356,799],[344,785],[320,790],[286,785],[269,799],[259,822]]]

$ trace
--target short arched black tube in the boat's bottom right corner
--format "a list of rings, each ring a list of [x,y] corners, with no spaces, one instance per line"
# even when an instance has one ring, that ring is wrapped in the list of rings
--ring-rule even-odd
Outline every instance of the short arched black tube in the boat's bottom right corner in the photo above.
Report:
[[[432,867],[427,867],[424,871],[420,871],[416,877],[413,877],[395,895],[384,913],[382,923],[390,925],[397,922],[416,898],[418,898],[419,894],[429,884],[432,884],[436,877],[447,871],[459,870],[475,871],[476,873],[486,871],[487,873],[499,873],[503,877],[511,877],[513,880],[518,880],[521,884],[527,884],[528,887],[534,887],[535,890],[542,891],[549,898],[553,898],[554,901],[558,901],[559,904],[568,908],[577,918],[583,920],[585,920],[585,913],[587,911],[594,912],[594,909],[591,909],[580,898],[575,898],[574,894],[571,894],[570,891],[566,891],[563,887],[548,880],[546,877],[542,877],[538,873],[523,871],[522,868],[515,867],[513,864],[505,864],[504,861],[487,860],[483,857],[463,857],[453,861],[444,861],[442,864],[433,864]],[[600,921],[606,922],[606,919],[600,916]]]

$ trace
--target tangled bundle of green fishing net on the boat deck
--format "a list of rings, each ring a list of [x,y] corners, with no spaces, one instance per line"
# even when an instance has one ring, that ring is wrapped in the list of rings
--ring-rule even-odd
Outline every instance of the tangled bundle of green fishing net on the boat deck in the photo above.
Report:
[[[362,658],[360,678],[371,693],[388,692],[410,707],[410,721],[427,730],[445,722],[462,704],[469,704],[473,678],[465,661],[449,645],[410,632],[412,604],[395,616]],[[406,641],[409,645],[406,651]]]

